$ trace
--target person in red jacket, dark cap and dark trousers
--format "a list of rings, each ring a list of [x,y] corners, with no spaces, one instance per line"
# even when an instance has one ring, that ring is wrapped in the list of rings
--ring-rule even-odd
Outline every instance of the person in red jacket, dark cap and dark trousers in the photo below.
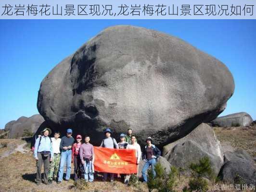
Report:
[[[81,159],[79,156],[79,148],[81,146],[81,140],[82,140],[82,136],[77,135],[77,142],[73,144],[73,147],[72,147],[72,162],[74,163],[75,181],[78,178],[81,178],[81,169],[80,169]]]

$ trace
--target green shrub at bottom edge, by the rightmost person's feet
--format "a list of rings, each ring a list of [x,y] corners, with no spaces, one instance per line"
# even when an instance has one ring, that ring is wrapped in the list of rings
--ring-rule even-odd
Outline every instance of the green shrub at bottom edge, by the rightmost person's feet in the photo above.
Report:
[[[148,189],[149,192],[157,189],[158,192],[175,192],[174,188],[177,186],[179,171],[176,167],[171,166],[169,174],[162,167],[160,163],[156,163],[155,167],[156,177],[154,178],[152,171],[148,171]]]

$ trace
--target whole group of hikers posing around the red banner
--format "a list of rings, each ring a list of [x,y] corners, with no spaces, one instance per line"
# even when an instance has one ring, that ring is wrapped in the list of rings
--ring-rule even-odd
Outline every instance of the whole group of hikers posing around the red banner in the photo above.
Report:
[[[72,137],[72,129],[66,130],[66,135],[60,139],[60,132],[54,132],[54,137],[50,138],[51,129],[45,128],[41,135],[36,139],[34,147],[34,157],[37,160],[37,178],[36,182],[41,183],[41,168],[44,165],[44,183],[51,184],[52,180],[61,183],[64,175],[64,166],[66,165],[65,180],[70,179],[71,163],[74,163],[74,179],[81,179],[82,176],[86,181],[94,180],[94,150],[90,144],[90,136],[85,135],[84,142],[82,136],[77,135],[76,141]],[[161,151],[152,144],[152,138],[146,139],[147,145],[144,146],[141,153],[141,146],[137,143],[136,136],[132,134],[132,129],[128,129],[127,134],[120,134],[120,142],[117,143],[115,138],[111,137],[112,131],[106,128],[104,131],[105,138],[102,140],[101,147],[135,149],[137,158],[137,175],[139,172],[139,163],[142,156],[145,161],[142,168],[142,177],[147,182],[147,169],[151,166],[155,176],[154,165],[156,159],[161,155]],[[142,155],[141,155],[142,154]],[[110,181],[114,181],[114,173],[109,173]],[[58,177],[57,177],[58,176]],[[103,173],[103,180],[107,180],[108,173]],[[117,174],[117,177],[121,177]],[[128,184],[130,175],[124,175],[124,182]]]

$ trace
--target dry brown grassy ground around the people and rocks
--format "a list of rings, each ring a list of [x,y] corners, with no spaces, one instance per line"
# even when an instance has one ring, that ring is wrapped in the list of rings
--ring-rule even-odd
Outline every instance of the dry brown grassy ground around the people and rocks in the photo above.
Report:
[[[245,127],[215,127],[214,131],[221,142],[224,151],[233,151],[236,148],[245,149],[253,158],[256,157],[256,126]],[[19,139],[0,139],[0,192],[68,192],[79,191],[74,185],[74,181],[63,181],[57,185],[35,183],[36,162],[30,152],[26,142]],[[181,177],[177,192],[182,192],[182,188],[188,184],[189,178]],[[211,191],[216,185],[209,182]],[[219,183],[218,186],[223,185]],[[146,184],[139,182],[138,187],[128,187],[121,180],[114,183],[102,182],[100,177],[96,177],[95,182],[89,183],[86,190],[88,192],[147,192]],[[216,191],[216,189],[215,189]],[[221,189],[217,190],[221,191]],[[234,190],[225,190],[234,191]],[[251,190],[247,190],[251,192]]]

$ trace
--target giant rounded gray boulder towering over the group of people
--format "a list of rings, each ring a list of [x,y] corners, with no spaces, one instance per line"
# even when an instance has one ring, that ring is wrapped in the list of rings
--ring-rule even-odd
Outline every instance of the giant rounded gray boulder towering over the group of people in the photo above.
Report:
[[[109,27],[43,79],[38,111],[63,132],[133,128],[164,146],[214,120],[234,91],[227,67],[183,40],[141,27]]]

